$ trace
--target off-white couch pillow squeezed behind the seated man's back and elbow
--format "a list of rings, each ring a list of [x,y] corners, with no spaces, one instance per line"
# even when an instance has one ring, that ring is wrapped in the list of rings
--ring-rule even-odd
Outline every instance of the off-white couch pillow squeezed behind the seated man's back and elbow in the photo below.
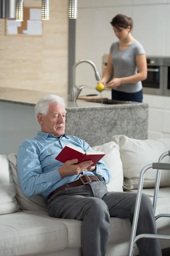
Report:
[[[16,189],[16,199],[22,210],[30,210],[30,211],[47,211],[47,200],[43,198],[41,195],[34,195],[32,197],[25,197],[20,184],[18,182],[17,175],[17,155],[10,154],[8,155],[9,166],[11,170],[11,175],[14,180],[15,189]]]

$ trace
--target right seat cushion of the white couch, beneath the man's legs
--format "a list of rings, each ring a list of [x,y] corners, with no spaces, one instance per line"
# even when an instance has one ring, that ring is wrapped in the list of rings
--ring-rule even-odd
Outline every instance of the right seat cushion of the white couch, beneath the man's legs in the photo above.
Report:
[[[151,198],[151,201],[153,198]],[[156,215],[160,213],[170,213],[170,199],[158,198]],[[68,247],[81,247],[82,221],[57,219],[68,228]],[[170,226],[170,218],[159,218],[156,227],[162,229]],[[110,218],[110,238],[109,242],[118,243],[128,241],[131,234],[131,224],[128,219]],[[74,234],[74,236],[73,236]]]

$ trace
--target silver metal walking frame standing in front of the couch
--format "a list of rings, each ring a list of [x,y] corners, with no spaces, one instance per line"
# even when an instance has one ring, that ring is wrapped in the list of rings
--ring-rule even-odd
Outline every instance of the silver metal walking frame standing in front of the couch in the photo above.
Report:
[[[142,171],[140,173],[128,256],[133,256],[136,241],[138,241],[141,238],[168,239],[168,240],[170,239],[170,236],[167,236],[167,235],[140,234],[140,235],[136,236],[136,228],[137,228],[138,217],[139,217],[139,208],[140,208],[141,197],[142,197],[142,188],[143,188],[143,183],[144,183],[144,174],[150,168],[157,169],[155,190],[154,190],[154,196],[153,196],[153,210],[154,210],[154,215],[155,215],[156,203],[157,203],[158,192],[159,192],[159,184],[160,184],[160,178],[161,178],[161,170],[170,170],[170,163],[162,163],[163,158],[166,156],[170,156],[170,150],[161,154],[161,156],[159,157],[158,163],[152,163],[152,164],[148,164],[148,165],[144,166],[144,168],[142,169]],[[157,220],[160,217],[170,217],[170,214],[166,214],[166,213],[159,214],[159,215],[155,216],[155,220]]]

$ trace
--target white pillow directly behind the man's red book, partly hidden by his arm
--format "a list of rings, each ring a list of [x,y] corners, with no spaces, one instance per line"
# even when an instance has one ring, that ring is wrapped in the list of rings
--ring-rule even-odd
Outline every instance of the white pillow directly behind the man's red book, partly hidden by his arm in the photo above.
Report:
[[[119,146],[113,141],[93,147],[95,151],[104,151],[102,160],[109,167],[111,181],[107,184],[108,191],[123,191],[123,168]]]

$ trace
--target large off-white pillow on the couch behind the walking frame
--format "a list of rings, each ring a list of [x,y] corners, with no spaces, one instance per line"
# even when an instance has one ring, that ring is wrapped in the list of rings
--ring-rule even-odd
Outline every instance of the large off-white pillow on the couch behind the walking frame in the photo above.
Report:
[[[136,140],[125,135],[113,136],[119,145],[120,158],[123,164],[124,189],[137,189],[142,168],[147,164],[158,162],[159,157],[170,150],[170,139]],[[163,162],[170,163],[170,157]],[[149,169],[144,175],[144,188],[155,186],[156,170]],[[170,186],[170,170],[162,170],[160,186]]]

